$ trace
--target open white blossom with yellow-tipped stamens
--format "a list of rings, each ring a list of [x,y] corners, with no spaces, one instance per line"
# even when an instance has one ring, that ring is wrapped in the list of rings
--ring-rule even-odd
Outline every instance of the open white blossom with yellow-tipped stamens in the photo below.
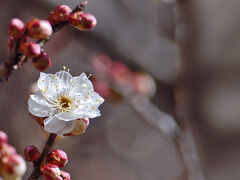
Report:
[[[39,91],[30,95],[29,112],[44,120],[46,131],[55,134],[68,134],[80,118],[100,116],[98,107],[104,99],[94,92],[92,82],[85,73],[72,77],[68,71],[55,75],[41,73],[38,79]]]

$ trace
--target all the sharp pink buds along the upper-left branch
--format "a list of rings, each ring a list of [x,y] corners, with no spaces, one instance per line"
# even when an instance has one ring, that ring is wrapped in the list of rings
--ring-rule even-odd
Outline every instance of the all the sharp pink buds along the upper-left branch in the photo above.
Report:
[[[47,41],[58,27],[68,24],[79,30],[90,30],[96,26],[97,20],[92,14],[84,13],[82,9],[72,11],[67,5],[57,6],[50,12],[48,20],[34,18],[24,25],[22,20],[14,18],[8,28],[9,50],[31,58],[36,69],[45,71],[51,66],[51,59],[41,42]]]

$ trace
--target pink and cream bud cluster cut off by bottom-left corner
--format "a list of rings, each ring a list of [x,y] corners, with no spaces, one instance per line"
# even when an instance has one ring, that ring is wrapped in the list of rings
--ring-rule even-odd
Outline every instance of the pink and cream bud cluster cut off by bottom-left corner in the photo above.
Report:
[[[0,131],[0,179],[20,180],[26,171],[23,158],[8,144],[7,134]]]

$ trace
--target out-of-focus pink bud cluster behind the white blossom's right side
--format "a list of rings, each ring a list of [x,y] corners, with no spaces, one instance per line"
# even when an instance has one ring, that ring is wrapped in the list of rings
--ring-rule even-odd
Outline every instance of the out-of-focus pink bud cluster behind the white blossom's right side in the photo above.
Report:
[[[94,89],[104,98],[116,98],[116,92],[106,79],[115,82],[120,88],[128,92],[136,92],[152,97],[156,92],[156,82],[151,75],[143,71],[131,71],[127,65],[114,61],[105,54],[96,56],[93,67],[101,79],[94,79]]]

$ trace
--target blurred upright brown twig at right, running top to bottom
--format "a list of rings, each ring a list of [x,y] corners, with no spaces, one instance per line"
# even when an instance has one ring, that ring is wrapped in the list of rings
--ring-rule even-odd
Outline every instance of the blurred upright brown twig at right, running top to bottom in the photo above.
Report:
[[[193,89],[193,56],[195,20],[191,0],[177,0],[175,11],[175,37],[179,47],[181,68],[175,89],[176,119],[181,122],[181,134],[176,147],[182,155],[186,167],[187,180],[205,180],[205,174],[201,166],[198,149],[194,140],[191,123],[194,120],[192,98]]]

